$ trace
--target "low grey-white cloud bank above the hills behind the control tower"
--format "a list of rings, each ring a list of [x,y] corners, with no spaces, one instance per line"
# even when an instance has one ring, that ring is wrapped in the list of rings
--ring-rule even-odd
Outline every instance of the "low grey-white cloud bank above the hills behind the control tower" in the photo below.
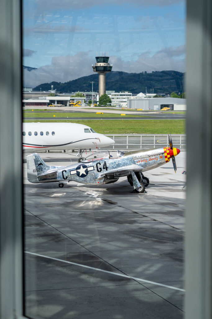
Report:
[[[90,52],[79,52],[74,56],[56,56],[50,65],[36,70],[24,70],[24,86],[35,87],[41,83],[67,82],[93,74],[92,64],[95,59]],[[175,70],[185,72],[185,46],[165,48],[154,54],[142,53],[135,61],[123,61],[118,56],[111,56],[110,63],[114,71],[139,73],[142,71]]]

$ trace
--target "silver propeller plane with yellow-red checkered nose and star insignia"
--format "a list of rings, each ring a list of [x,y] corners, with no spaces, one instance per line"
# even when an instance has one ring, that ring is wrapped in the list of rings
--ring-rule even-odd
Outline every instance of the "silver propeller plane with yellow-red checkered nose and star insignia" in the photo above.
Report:
[[[116,158],[111,158],[109,151],[102,150],[87,156],[81,163],[66,167],[47,166],[43,159],[34,153],[26,158],[27,178],[31,183],[59,182],[59,187],[63,187],[64,182],[100,185],[117,182],[119,177],[127,176],[134,191],[143,193],[149,185],[143,172],[159,167],[172,158],[176,173],[175,156],[180,150],[173,147],[171,136],[168,138],[170,147],[132,152],[117,151]]]

